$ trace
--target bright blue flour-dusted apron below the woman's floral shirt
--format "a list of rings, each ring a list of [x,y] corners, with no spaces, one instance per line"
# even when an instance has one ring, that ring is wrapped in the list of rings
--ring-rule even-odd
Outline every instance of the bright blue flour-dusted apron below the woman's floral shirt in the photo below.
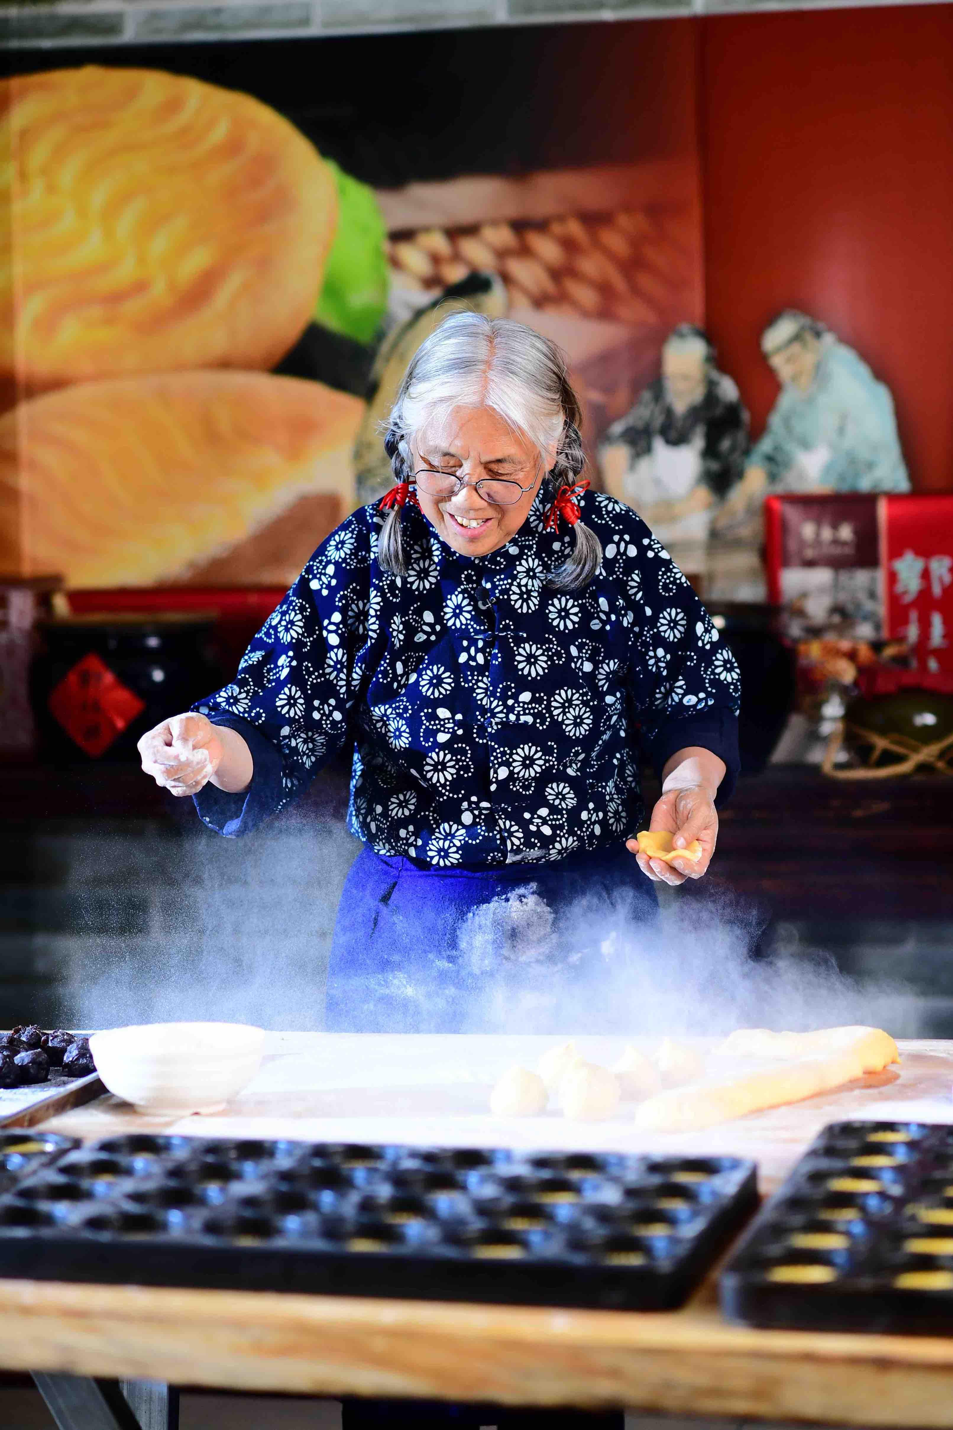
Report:
[[[332,1032],[625,1031],[612,987],[655,891],[624,844],[545,864],[434,868],[365,847],[328,972]],[[615,1022],[618,1020],[618,1028]]]

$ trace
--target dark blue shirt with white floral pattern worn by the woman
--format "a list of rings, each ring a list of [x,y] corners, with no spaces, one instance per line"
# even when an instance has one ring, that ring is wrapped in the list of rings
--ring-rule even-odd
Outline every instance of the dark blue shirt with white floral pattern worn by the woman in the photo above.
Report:
[[[238,729],[255,775],[213,785],[200,817],[245,834],[341,751],[353,751],[349,828],[426,865],[558,859],[644,822],[642,751],[687,745],[737,772],[738,669],[691,586],[635,512],[582,498],[602,565],[582,591],[547,576],[571,535],[542,496],[488,556],[461,556],[404,509],[406,576],[376,559],[382,515],[349,516],[195,709]]]

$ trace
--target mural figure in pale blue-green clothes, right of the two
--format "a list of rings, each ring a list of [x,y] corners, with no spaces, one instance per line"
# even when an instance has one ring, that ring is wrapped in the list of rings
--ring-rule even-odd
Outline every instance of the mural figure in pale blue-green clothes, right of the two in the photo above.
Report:
[[[909,492],[890,389],[823,323],[786,309],[761,333],[781,383],[764,436],[717,525],[768,492]]]

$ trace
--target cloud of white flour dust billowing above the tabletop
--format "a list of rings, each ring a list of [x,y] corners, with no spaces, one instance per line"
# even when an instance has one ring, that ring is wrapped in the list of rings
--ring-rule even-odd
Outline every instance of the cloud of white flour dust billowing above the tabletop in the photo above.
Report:
[[[222,1018],[266,1028],[323,1027],[331,934],[358,844],[341,818],[300,811],[252,837],[223,839],[197,821],[136,831],[103,825],[76,842],[70,881],[116,902],[117,932],[77,930],[59,954],[62,1020],[72,1027]],[[120,932],[129,902],[139,927]],[[657,922],[625,891],[584,898],[568,914],[527,882],[472,911],[456,947],[432,950],[452,974],[445,1000],[429,980],[422,1027],[461,1031],[717,1035],[738,1027],[867,1022],[917,1032],[903,985],[857,981],[820,950],[753,950],[763,915],[717,885],[661,888]],[[441,1005],[442,1004],[442,1005]],[[388,1031],[381,1028],[379,1031]]]

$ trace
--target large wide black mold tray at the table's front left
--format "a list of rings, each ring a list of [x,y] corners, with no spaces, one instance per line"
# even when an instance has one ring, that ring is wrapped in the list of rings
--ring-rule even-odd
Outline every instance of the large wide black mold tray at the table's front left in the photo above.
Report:
[[[737,1157],[112,1137],[0,1195],[0,1276],[661,1310],[756,1205]]]

